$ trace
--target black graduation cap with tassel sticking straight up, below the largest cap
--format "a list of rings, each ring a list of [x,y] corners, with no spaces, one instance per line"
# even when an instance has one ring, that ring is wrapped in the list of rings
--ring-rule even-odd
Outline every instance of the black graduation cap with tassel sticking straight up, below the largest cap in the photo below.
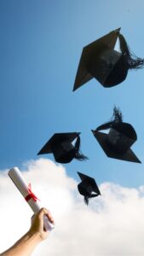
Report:
[[[92,130],[101,148],[108,157],[141,163],[130,149],[137,140],[133,126],[123,122],[122,113],[118,108],[113,109],[113,117],[114,119],[110,122],[100,125],[95,131]],[[110,129],[108,134],[101,132],[106,129]]]

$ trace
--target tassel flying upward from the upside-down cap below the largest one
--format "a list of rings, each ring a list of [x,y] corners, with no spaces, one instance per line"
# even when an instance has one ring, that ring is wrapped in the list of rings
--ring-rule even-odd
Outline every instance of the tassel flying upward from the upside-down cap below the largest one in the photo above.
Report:
[[[123,115],[119,108],[114,107],[111,121],[98,126],[96,131],[107,130],[111,128],[113,124],[118,122],[123,122]]]

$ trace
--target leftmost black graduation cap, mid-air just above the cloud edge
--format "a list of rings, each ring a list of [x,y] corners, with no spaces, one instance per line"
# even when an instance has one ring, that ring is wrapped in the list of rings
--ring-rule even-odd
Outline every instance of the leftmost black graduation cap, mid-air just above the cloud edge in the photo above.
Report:
[[[53,153],[58,163],[69,163],[72,159],[87,160],[88,158],[80,153],[80,132],[55,133],[38,154]],[[72,142],[76,139],[76,143]]]

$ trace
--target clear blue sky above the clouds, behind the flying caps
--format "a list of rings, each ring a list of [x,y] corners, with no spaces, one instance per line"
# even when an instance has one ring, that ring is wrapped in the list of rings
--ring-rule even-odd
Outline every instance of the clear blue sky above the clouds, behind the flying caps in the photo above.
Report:
[[[72,92],[83,47],[119,26],[135,55],[144,57],[143,13],[142,0],[0,1],[1,170],[37,160],[55,132],[81,131],[89,160],[67,164],[69,176],[84,172],[97,183],[143,184],[144,70],[111,89],[93,79]],[[91,133],[111,118],[114,104],[135,127],[132,148],[141,165],[107,158]]]

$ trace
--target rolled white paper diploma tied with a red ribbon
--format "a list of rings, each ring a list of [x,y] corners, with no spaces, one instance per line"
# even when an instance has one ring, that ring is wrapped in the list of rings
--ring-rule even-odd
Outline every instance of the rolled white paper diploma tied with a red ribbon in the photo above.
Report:
[[[14,182],[17,189],[19,189],[21,195],[23,195],[24,198],[26,199],[26,196],[30,195],[30,193],[28,191],[28,184],[26,183],[26,180],[24,179],[24,177],[21,175],[19,169],[17,167],[14,167],[9,170],[8,174],[9,174],[9,177]],[[33,200],[33,198],[29,199],[27,201],[27,203],[32,208],[32,211],[34,213],[37,213],[42,208],[37,203],[37,201]],[[54,224],[49,222],[49,219],[47,218],[46,215],[43,216],[43,223],[44,223],[44,229],[46,231],[48,231],[48,230],[50,231],[50,230],[54,229]]]

